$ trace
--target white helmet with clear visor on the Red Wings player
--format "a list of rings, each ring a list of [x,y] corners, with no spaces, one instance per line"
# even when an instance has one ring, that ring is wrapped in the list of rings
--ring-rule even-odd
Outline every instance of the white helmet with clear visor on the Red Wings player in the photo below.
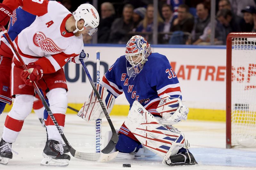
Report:
[[[100,23],[100,17],[98,11],[91,4],[81,4],[76,9],[76,11],[73,12],[73,16],[76,19],[76,30],[73,31],[73,33],[87,29],[87,33],[92,36],[97,32],[97,26],[99,26]],[[79,30],[77,28],[77,21],[80,19],[84,19],[84,27]]]

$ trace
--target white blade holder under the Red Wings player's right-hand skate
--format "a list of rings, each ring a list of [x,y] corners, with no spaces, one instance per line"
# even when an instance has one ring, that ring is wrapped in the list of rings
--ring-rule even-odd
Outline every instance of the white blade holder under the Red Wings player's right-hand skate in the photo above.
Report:
[[[40,163],[41,166],[68,166],[68,159],[54,159],[44,154],[43,156],[44,158]]]

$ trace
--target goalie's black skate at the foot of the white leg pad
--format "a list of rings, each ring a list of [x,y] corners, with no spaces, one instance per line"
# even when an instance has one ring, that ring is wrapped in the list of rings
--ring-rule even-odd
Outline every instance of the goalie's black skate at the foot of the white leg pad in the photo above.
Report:
[[[196,165],[196,159],[190,152],[180,152],[174,156],[171,156],[170,159],[166,160],[167,165],[177,166],[177,165]]]

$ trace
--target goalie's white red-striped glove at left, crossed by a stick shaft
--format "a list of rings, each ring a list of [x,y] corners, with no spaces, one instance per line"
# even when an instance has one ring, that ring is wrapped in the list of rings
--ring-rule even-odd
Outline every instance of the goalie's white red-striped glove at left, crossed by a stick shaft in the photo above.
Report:
[[[115,103],[115,97],[107,91],[107,89],[99,84],[94,83],[97,91],[100,94],[100,97],[108,111],[108,114],[110,114],[114,103]],[[77,113],[77,115],[81,118],[83,118],[86,122],[95,121],[97,119],[101,119],[105,116],[101,106],[100,102],[97,99],[97,96],[94,91],[91,92],[89,99],[87,99],[83,105],[83,107],[80,109],[80,111]]]

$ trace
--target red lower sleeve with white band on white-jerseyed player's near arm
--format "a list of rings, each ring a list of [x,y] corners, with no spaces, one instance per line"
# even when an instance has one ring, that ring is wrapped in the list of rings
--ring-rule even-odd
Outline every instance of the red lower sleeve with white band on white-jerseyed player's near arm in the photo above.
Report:
[[[41,57],[35,63],[40,65],[45,74],[54,73],[63,67],[67,62],[68,59],[77,56],[79,54],[65,54],[63,52],[54,54],[54,55],[47,55],[46,57]]]

